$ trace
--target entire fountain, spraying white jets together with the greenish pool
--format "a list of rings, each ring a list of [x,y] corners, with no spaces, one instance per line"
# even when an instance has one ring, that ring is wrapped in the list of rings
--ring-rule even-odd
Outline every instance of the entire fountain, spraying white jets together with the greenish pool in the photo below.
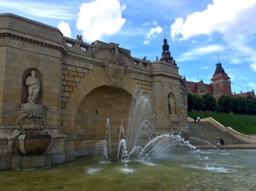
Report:
[[[52,168],[11,172],[15,183],[8,190],[31,190],[31,185],[44,190],[255,190],[255,150],[195,150],[179,135],[158,135],[153,117],[148,98],[137,96],[128,132],[120,126],[119,160],[113,161],[107,119],[106,137],[94,151],[97,160],[78,158]],[[8,178],[0,172],[1,188]],[[24,184],[26,179],[30,184]]]

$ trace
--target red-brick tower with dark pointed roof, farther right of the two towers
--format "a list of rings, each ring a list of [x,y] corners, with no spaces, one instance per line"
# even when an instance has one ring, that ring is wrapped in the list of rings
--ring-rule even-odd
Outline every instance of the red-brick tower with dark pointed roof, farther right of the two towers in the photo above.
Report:
[[[216,64],[215,73],[211,78],[211,85],[213,86],[213,91],[220,88],[223,95],[232,95],[230,77],[225,73],[221,63]]]

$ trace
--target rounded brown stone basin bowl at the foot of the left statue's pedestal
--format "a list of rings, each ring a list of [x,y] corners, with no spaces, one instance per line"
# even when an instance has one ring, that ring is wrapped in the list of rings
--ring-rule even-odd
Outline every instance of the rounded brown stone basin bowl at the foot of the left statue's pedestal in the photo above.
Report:
[[[23,155],[42,155],[51,142],[50,135],[19,135],[14,139],[14,147]]]

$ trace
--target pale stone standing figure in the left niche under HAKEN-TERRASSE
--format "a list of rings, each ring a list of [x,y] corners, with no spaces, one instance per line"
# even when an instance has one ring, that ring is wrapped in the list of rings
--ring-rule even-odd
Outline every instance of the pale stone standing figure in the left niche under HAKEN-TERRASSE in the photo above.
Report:
[[[35,103],[40,90],[40,81],[36,78],[36,71],[31,71],[31,76],[26,78],[26,85],[28,86],[28,103]]]

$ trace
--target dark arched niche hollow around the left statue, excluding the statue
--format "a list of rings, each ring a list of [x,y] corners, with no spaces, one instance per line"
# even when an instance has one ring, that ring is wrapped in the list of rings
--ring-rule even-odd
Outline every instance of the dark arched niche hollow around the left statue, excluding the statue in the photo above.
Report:
[[[40,81],[40,91],[39,91],[38,97],[36,99],[36,103],[42,105],[43,104],[43,98],[42,98],[43,75],[36,68],[28,68],[27,70],[25,70],[23,72],[23,75],[22,75],[22,89],[21,89],[21,103],[28,103],[28,86],[26,85],[26,78],[28,78],[28,76],[31,76],[31,71],[32,70],[34,70],[36,72],[35,76]]]

